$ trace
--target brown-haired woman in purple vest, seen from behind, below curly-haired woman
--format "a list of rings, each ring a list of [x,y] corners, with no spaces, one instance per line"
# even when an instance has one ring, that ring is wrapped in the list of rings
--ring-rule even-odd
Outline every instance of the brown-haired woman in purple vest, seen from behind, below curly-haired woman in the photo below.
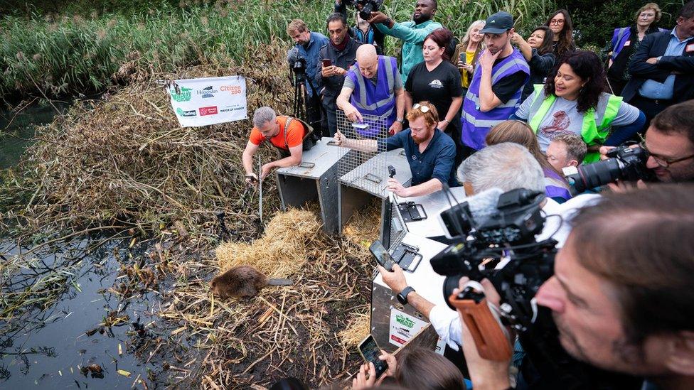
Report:
[[[543,168],[543,173],[545,174],[545,195],[551,197],[557,203],[563,203],[571,199],[569,183],[552,167],[547,160],[547,156],[540,151],[538,137],[535,136],[533,129],[530,129],[530,126],[524,121],[503,121],[493,126],[487,133],[485,141],[487,146],[502,142],[513,142],[525,146]]]

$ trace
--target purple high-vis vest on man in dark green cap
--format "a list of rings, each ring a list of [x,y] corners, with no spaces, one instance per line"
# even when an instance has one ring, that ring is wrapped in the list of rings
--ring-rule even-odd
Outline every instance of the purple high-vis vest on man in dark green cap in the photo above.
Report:
[[[514,49],[511,55],[492,67],[491,84],[494,85],[503,77],[513,75],[516,72],[525,72],[525,82],[528,82],[530,67],[521,52]],[[487,133],[489,133],[489,129],[505,121],[508,117],[511,117],[511,114],[516,112],[518,106],[521,105],[521,92],[523,92],[523,85],[525,85],[525,82],[523,82],[508,102],[502,102],[496,108],[488,112],[482,112],[479,109],[479,85],[481,80],[482,68],[477,63],[472,76],[472,82],[470,82],[470,87],[467,90],[467,94],[465,94],[463,112],[461,114],[461,121],[463,122],[461,139],[465,145],[477,151],[486,146],[484,139]]]

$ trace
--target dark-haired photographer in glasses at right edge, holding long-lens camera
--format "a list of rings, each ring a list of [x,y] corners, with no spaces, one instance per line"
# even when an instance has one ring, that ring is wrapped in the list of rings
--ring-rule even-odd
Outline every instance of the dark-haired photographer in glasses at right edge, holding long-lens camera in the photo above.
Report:
[[[684,183],[694,181],[694,100],[675,104],[664,109],[651,121],[642,144],[648,151],[646,168],[658,181]],[[611,147],[604,146],[604,155]],[[644,187],[644,181],[637,185]],[[610,183],[612,190],[622,191],[633,183]]]

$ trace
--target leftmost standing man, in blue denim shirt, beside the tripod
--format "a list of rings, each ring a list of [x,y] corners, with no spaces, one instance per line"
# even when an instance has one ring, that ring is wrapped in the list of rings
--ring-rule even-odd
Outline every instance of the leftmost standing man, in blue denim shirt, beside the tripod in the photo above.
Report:
[[[301,19],[294,19],[287,26],[287,34],[292,37],[295,48],[301,57],[306,59],[306,94],[309,99],[306,101],[306,115],[311,126],[314,126],[314,131],[321,132],[323,135],[328,135],[328,126],[323,115],[323,107],[319,91],[322,85],[316,85],[316,75],[321,72],[319,61],[319,52],[321,47],[328,43],[328,38],[321,33],[312,33],[309,31],[306,23]],[[311,81],[314,80],[315,82]],[[317,125],[317,126],[316,126]]]

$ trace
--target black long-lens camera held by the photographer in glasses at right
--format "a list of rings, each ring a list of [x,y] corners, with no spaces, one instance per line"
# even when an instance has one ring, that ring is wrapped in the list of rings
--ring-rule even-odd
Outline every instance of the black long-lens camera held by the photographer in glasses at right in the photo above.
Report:
[[[648,151],[633,143],[624,143],[607,153],[607,160],[578,167],[564,168],[564,174],[576,193],[596,188],[616,180],[653,180],[646,168]]]

